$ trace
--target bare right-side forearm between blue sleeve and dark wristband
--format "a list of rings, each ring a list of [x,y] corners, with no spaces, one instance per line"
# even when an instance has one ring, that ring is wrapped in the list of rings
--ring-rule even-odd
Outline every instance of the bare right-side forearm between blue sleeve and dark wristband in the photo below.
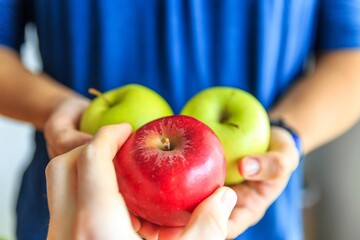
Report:
[[[360,116],[360,51],[322,56],[270,111],[296,129],[307,153],[344,133]]]

